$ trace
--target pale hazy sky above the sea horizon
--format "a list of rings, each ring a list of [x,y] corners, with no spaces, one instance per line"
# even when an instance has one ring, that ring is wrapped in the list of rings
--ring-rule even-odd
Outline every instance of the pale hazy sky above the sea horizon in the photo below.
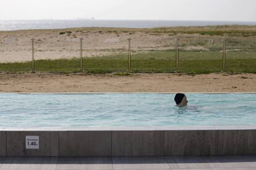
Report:
[[[256,22],[255,0],[0,0],[0,20],[215,20]]]

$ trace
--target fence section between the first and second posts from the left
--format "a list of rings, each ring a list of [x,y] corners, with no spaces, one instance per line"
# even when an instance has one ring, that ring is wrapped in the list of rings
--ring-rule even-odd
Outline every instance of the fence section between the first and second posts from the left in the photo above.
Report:
[[[79,71],[77,38],[47,42],[47,39],[35,42],[35,71]]]

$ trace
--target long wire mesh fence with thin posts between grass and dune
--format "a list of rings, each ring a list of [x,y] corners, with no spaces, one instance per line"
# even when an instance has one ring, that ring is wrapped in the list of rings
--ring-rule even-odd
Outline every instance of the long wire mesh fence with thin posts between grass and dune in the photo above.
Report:
[[[173,38],[162,49],[139,49],[133,40],[123,49],[89,49],[87,43],[70,36],[9,39],[0,46],[0,71],[256,73],[254,37]]]

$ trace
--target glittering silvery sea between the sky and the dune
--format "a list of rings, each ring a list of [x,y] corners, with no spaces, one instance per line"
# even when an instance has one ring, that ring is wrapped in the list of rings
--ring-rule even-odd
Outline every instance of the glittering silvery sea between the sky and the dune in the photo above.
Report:
[[[66,30],[79,28],[124,28],[124,29],[155,29],[155,28],[180,28],[180,27],[210,27],[210,26],[256,26],[255,21],[207,21],[207,20],[0,20],[0,23],[10,22],[1,31],[23,31],[23,30]],[[12,30],[11,22],[20,23],[51,23],[48,25],[18,26]],[[59,23],[62,22],[62,23]],[[61,25],[65,22],[72,22]],[[80,22],[80,23],[79,23]],[[88,22],[85,24],[84,22]],[[101,23],[103,22],[103,23]],[[106,24],[105,22],[109,22]],[[122,22],[122,23],[117,23]],[[151,23],[149,23],[151,22]],[[93,24],[92,24],[93,23]]]

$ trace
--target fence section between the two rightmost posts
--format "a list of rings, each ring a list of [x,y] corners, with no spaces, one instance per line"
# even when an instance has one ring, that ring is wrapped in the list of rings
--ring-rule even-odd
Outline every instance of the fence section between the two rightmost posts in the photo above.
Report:
[[[179,71],[220,72],[223,62],[223,39],[179,40]]]

